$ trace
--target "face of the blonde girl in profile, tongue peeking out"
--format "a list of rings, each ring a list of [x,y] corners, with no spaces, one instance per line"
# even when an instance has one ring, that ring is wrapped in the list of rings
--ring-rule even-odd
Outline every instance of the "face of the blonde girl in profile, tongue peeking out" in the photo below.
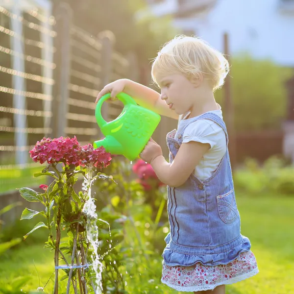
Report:
[[[176,114],[185,114],[197,104],[197,87],[185,75],[174,73],[159,81],[161,99],[165,100]]]

